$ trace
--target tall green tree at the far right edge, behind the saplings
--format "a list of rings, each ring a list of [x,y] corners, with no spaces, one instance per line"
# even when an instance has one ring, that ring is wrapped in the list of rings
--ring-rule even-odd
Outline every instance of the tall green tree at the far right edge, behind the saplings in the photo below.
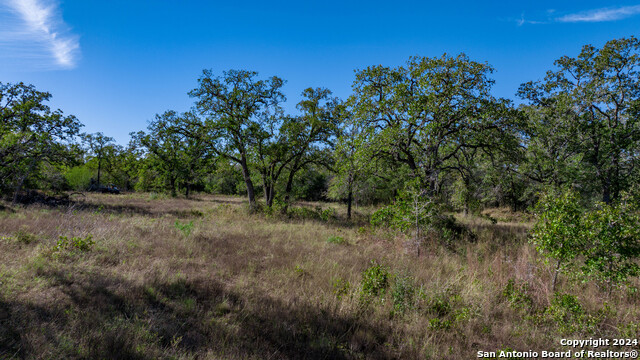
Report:
[[[608,41],[601,49],[586,45],[580,54],[564,56],[544,81],[523,84],[535,132],[531,137],[532,169],[540,180],[572,180],[578,164],[595,182],[602,200],[619,199],[633,183],[638,166],[640,121],[640,41]]]

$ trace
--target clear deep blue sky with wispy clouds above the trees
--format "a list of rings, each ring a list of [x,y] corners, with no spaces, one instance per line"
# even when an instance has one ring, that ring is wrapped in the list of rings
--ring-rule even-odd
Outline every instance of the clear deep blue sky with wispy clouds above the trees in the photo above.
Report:
[[[516,100],[557,58],[639,29],[640,0],[0,0],[0,82],[49,91],[85,132],[126,144],[156,113],[189,110],[202,69],[277,75],[295,113],[307,87],[349,96],[356,69],[464,52]]]

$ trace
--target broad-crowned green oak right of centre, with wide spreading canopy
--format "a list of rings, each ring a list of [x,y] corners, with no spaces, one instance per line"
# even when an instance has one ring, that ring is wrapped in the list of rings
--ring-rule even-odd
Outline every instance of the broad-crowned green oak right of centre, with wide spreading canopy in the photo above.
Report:
[[[463,151],[517,144],[511,104],[490,95],[492,71],[465,55],[369,67],[356,74],[353,116],[374,156],[406,165],[435,194]]]

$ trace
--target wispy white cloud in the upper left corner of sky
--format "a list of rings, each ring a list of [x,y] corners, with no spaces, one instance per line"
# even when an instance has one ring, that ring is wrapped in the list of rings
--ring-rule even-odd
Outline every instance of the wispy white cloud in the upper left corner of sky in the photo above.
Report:
[[[62,20],[59,3],[53,0],[3,0],[10,12],[21,20],[2,32],[0,46],[12,49],[13,55],[28,54],[30,60],[48,57],[57,67],[73,68],[79,55],[78,37],[70,33]],[[20,28],[15,28],[16,25]],[[48,56],[38,54],[38,48]]]

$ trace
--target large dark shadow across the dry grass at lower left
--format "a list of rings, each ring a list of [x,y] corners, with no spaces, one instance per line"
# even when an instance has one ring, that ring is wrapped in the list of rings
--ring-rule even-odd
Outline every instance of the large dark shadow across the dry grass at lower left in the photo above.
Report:
[[[58,301],[36,306],[0,299],[0,356],[391,357],[383,346],[391,332],[363,317],[285,304],[257,292],[240,294],[214,279],[138,286],[95,272],[43,269],[39,276],[57,289]]]

